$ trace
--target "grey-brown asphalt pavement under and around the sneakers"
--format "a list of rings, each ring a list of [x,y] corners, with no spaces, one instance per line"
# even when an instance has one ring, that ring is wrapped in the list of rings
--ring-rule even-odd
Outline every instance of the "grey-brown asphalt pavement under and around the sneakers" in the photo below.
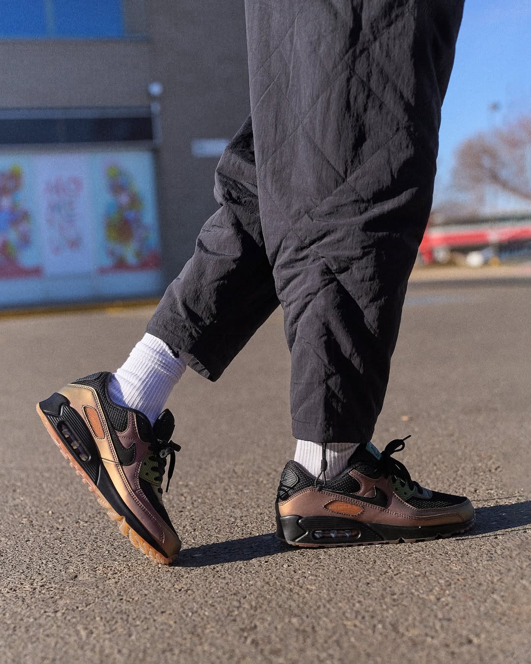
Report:
[[[531,286],[408,292],[382,448],[477,525],[416,544],[297,549],[273,537],[291,458],[289,353],[276,311],[212,384],[169,407],[183,446],[166,497],[183,539],[157,566],[119,535],[35,403],[114,370],[151,309],[0,319],[2,663],[531,662]]]

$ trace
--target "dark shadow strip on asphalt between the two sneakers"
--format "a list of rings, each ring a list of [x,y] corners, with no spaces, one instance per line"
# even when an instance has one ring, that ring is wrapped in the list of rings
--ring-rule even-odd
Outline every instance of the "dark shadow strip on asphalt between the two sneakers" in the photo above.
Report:
[[[254,537],[242,537],[242,539],[185,548],[181,550],[176,566],[208,567],[224,562],[265,558],[277,553],[287,553],[290,550],[293,551],[293,548],[277,540],[273,533],[266,533],[264,535],[254,535]]]

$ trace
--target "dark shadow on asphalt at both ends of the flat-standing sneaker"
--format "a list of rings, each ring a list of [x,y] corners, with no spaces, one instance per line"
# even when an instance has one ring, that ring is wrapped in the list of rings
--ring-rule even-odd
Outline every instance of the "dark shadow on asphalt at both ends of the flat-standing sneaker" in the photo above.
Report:
[[[455,539],[463,540],[478,536],[500,537],[501,535],[514,533],[515,529],[525,530],[528,526],[531,526],[531,501],[513,503],[512,505],[477,507],[475,527],[466,535],[461,535]],[[264,535],[254,535],[254,537],[242,537],[242,539],[185,548],[179,554],[175,566],[208,567],[225,562],[265,558],[266,556],[274,556],[293,550],[296,549],[277,540],[273,533],[266,533]]]

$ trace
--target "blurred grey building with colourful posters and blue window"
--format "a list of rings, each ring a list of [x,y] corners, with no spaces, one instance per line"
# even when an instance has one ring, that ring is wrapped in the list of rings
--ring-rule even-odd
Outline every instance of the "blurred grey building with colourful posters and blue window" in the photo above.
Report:
[[[159,295],[249,112],[243,0],[0,13],[0,307]]]

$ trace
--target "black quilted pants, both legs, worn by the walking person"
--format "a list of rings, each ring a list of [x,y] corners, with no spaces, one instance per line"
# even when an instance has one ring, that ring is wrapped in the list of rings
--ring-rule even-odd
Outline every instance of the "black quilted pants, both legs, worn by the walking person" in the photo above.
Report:
[[[370,440],[463,0],[247,0],[251,116],[148,331],[216,380],[280,302],[295,438]]]

